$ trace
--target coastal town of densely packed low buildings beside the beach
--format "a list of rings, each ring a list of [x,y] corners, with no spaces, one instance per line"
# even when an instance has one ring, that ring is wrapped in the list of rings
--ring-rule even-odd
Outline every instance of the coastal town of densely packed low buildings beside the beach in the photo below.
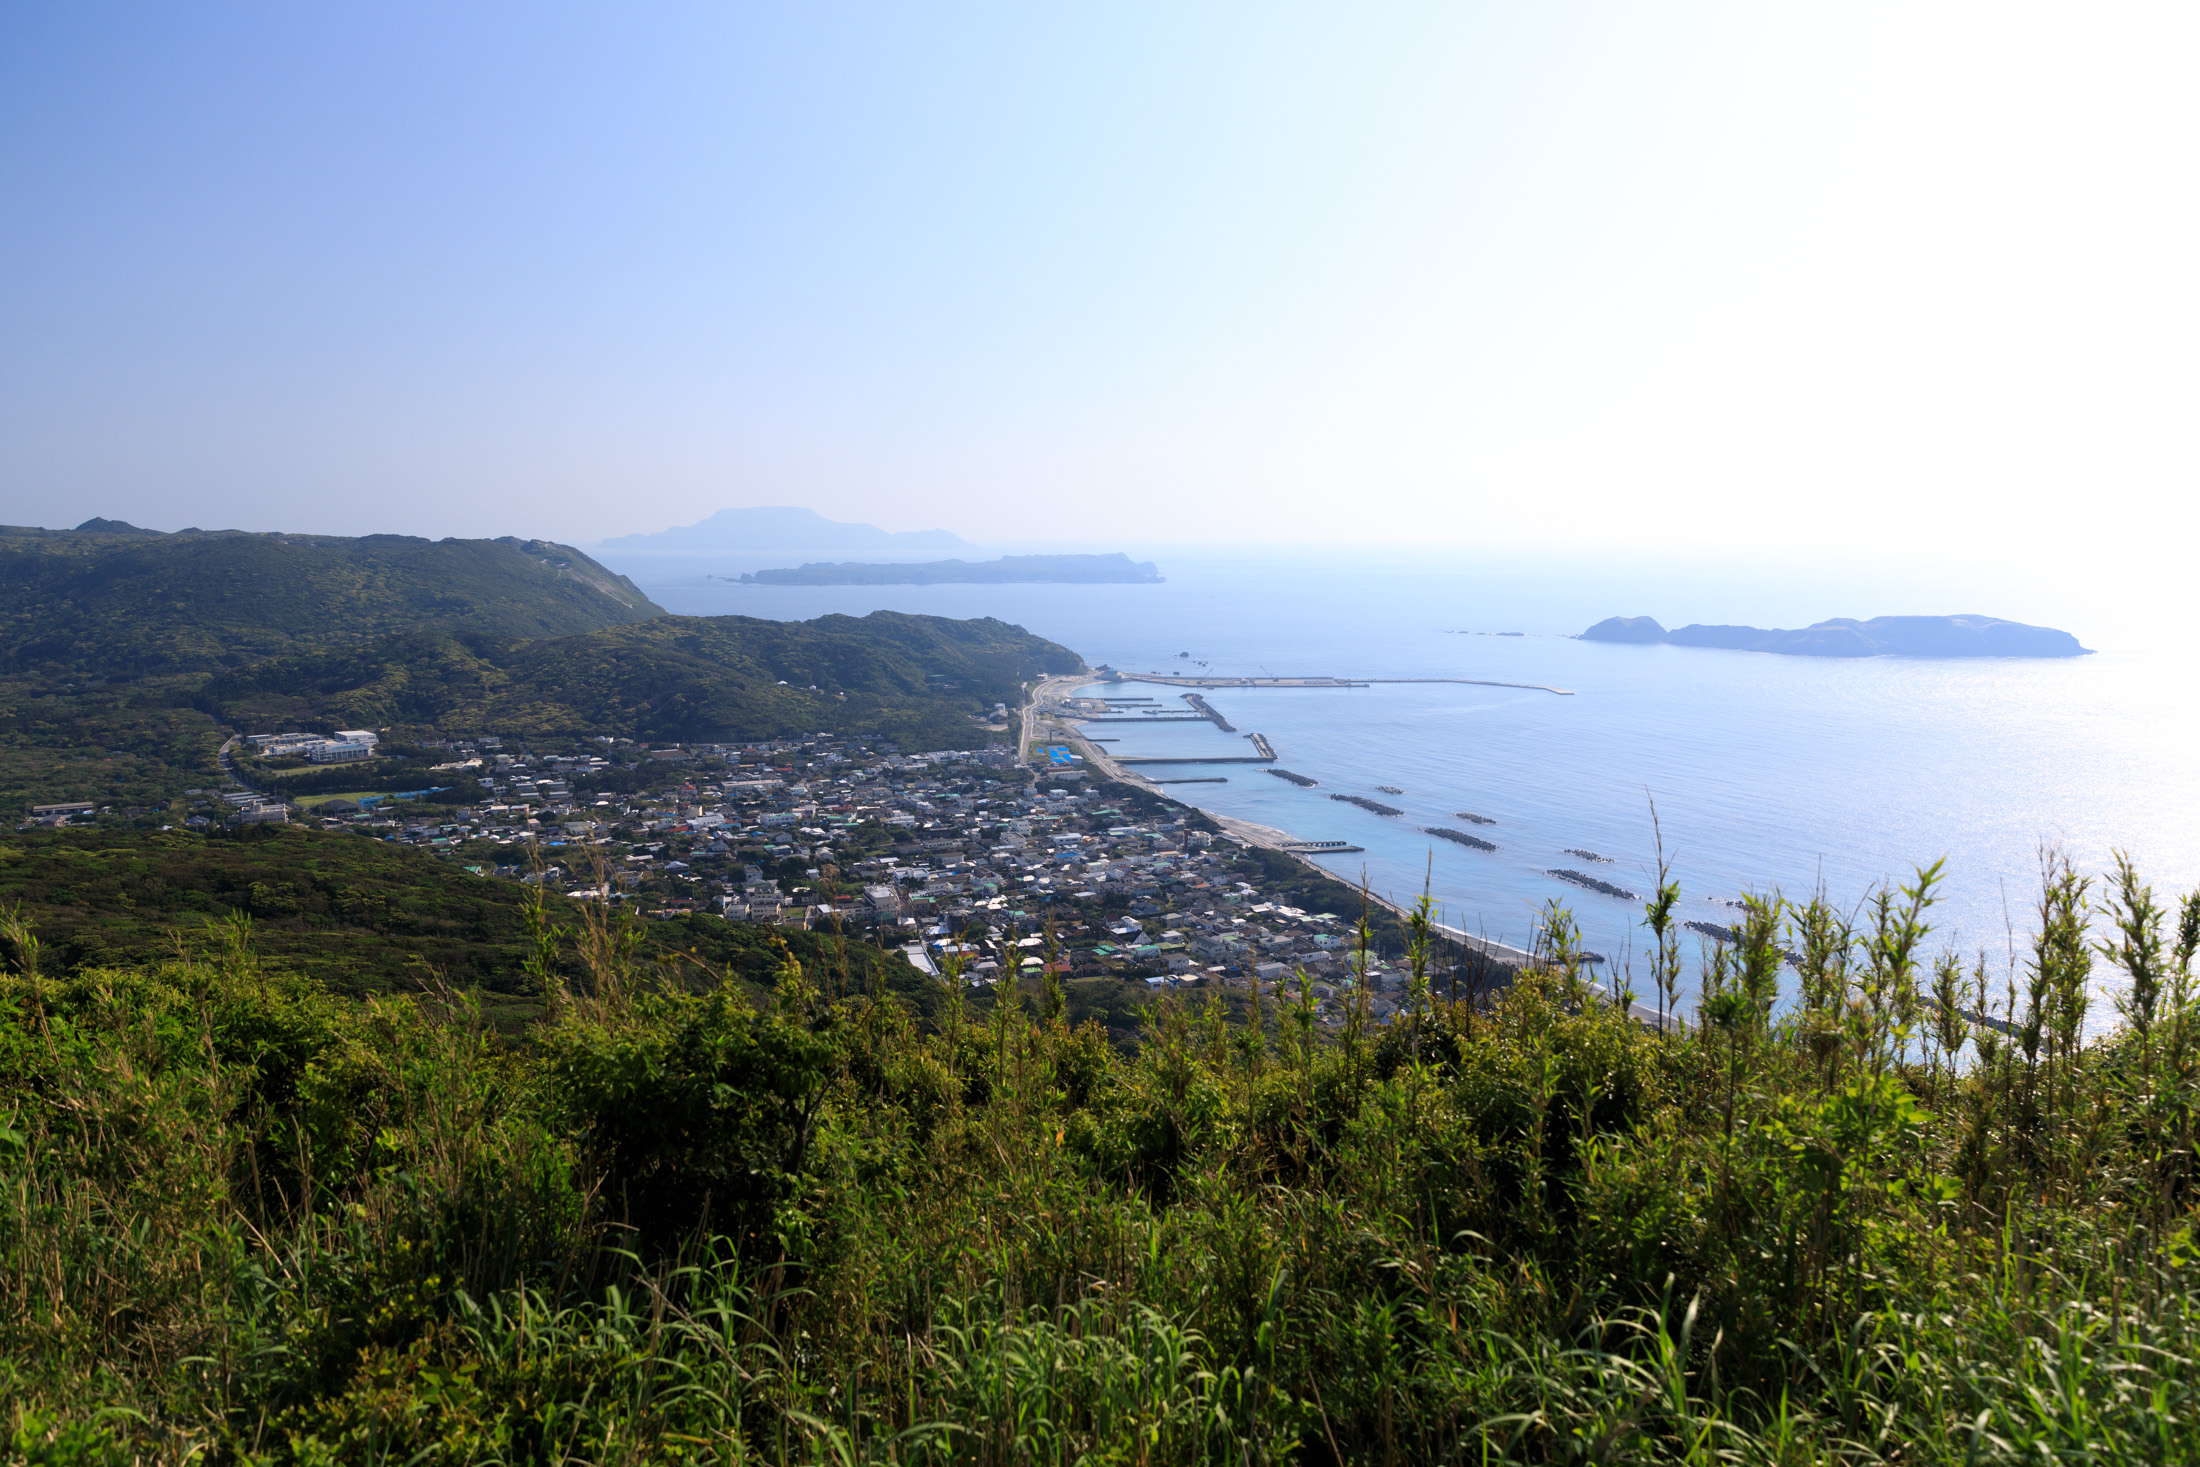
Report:
[[[286,790],[299,776],[341,783],[400,759],[431,783]],[[1063,761],[1058,746],[1019,759],[1010,748],[902,754],[838,735],[642,746],[398,743],[341,730],[233,739],[222,763],[229,787],[136,814],[191,829],[288,823],[356,834],[653,919],[858,933],[924,974],[975,985],[1049,970],[1291,996],[1302,985],[1327,1027],[1344,1023],[1360,983],[1377,1023],[1408,985],[1395,924],[1393,941],[1362,944],[1362,917],[1386,915],[1366,893],[1142,781]]]

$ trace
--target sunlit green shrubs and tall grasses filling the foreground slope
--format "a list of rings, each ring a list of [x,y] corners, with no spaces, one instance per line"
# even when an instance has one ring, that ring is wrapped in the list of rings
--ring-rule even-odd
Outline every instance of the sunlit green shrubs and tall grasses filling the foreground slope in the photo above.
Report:
[[[1989,983],[1929,889],[1751,906],[1687,1032],[1553,911],[1485,1010],[1417,981],[1329,1040],[1296,994],[1164,999],[1129,1058],[1052,990],[917,1023],[816,950],[750,1003],[612,919],[532,915],[521,1043],[242,919],[66,977],[15,924],[4,1425],[35,1460],[2191,1460],[2200,902],[2055,864]]]

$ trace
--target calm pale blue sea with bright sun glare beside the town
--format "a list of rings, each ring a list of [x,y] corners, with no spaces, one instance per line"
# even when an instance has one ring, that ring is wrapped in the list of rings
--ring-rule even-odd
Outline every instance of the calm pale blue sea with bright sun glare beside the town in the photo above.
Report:
[[[1608,647],[1566,633],[1602,616],[1654,609],[1641,587],[1412,556],[1173,556],[1164,585],[1100,587],[744,587],[708,576],[755,563],[605,559],[673,611],[999,616],[1126,673],[1181,673],[1177,653],[1190,653],[1214,673],[1569,688],[1566,697],[1456,684],[1221,688],[1206,697],[1236,728],[1267,735],[1280,765],[1318,787],[1294,787],[1258,765],[1146,772],[1225,774],[1221,785],[1170,792],[1309,840],[1362,845],[1364,853],[1324,864],[1397,900],[1428,882],[1445,922],[1503,941],[1525,944],[1538,911],[1562,900],[1591,948],[1635,961],[1637,972],[1641,904],[1549,871],[1577,869],[1648,893],[1652,801],[1687,917],[1723,922],[1731,915],[1723,902],[1742,891],[1806,895],[1824,886],[1855,904],[1881,882],[1907,882],[1916,867],[1945,858],[1932,941],[1987,950],[1995,970],[2006,966],[2011,928],[2024,941],[2042,842],[2057,842],[2088,871],[2101,871],[2112,849],[2130,851],[2165,895],[2200,884],[2200,776],[2189,757],[2200,708],[2191,662],[2176,651],[1848,662]],[[1819,605],[1780,625],[1881,609],[1925,607]],[[1507,631],[1525,636],[1498,636]],[[1177,699],[1164,686],[1122,691]],[[1247,750],[1208,724],[1089,732],[1118,737],[1122,754]],[[1375,816],[1331,794],[1406,814]],[[1465,827],[1456,812],[1496,825]],[[1472,829],[1498,851],[1432,840],[1421,834],[1428,825]]]

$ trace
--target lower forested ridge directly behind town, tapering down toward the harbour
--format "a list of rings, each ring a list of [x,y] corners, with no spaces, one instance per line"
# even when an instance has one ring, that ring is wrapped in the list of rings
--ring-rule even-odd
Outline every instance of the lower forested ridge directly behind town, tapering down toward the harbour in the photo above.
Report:
[[[821,728],[904,748],[983,743],[975,715],[1078,653],[992,618],[658,616],[548,640],[418,633],[275,658],[213,677],[200,706],[235,728],[359,724],[444,735],[772,739]]]

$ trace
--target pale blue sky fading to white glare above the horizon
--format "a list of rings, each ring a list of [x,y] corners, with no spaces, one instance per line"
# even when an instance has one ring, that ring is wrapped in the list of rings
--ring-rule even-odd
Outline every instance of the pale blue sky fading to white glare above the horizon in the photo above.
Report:
[[[2160,576],[2196,62],[2180,7],[0,4],[0,517]]]

